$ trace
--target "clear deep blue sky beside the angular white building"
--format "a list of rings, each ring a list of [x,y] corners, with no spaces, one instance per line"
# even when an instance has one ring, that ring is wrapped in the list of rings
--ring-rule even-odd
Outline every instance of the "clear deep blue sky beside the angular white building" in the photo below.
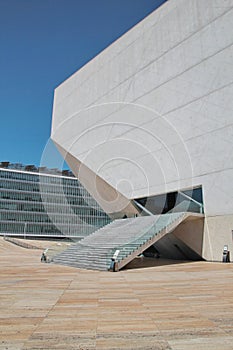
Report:
[[[40,164],[56,86],[165,0],[0,0],[0,161]]]

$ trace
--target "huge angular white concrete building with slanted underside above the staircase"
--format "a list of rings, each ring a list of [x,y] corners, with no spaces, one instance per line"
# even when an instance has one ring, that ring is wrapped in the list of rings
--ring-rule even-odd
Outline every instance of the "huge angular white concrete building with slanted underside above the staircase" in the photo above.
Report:
[[[221,260],[224,244],[233,253],[232,96],[233,0],[169,0],[56,89],[51,138],[110,214],[202,186],[203,257]]]

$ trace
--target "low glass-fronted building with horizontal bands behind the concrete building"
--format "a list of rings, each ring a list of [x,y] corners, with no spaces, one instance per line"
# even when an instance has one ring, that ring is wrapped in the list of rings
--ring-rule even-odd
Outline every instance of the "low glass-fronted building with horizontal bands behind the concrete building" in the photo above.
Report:
[[[0,235],[78,240],[109,222],[75,177],[0,168]]]

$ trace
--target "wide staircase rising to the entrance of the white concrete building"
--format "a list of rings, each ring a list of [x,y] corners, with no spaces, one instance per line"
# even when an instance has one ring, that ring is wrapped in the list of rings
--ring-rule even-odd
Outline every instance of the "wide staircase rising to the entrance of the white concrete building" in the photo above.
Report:
[[[53,262],[92,270],[109,270],[117,252],[116,263],[122,269],[136,256],[172,232],[191,216],[203,214],[174,212],[115,220],[85,237],[53,258]]]

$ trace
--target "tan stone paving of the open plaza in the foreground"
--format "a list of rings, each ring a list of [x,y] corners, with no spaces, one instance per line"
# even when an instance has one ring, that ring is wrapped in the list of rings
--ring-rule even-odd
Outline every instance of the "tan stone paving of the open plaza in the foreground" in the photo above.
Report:
[[[233,264],[110,273],[40,255],[0,239],[0,350],[233,349]]]

